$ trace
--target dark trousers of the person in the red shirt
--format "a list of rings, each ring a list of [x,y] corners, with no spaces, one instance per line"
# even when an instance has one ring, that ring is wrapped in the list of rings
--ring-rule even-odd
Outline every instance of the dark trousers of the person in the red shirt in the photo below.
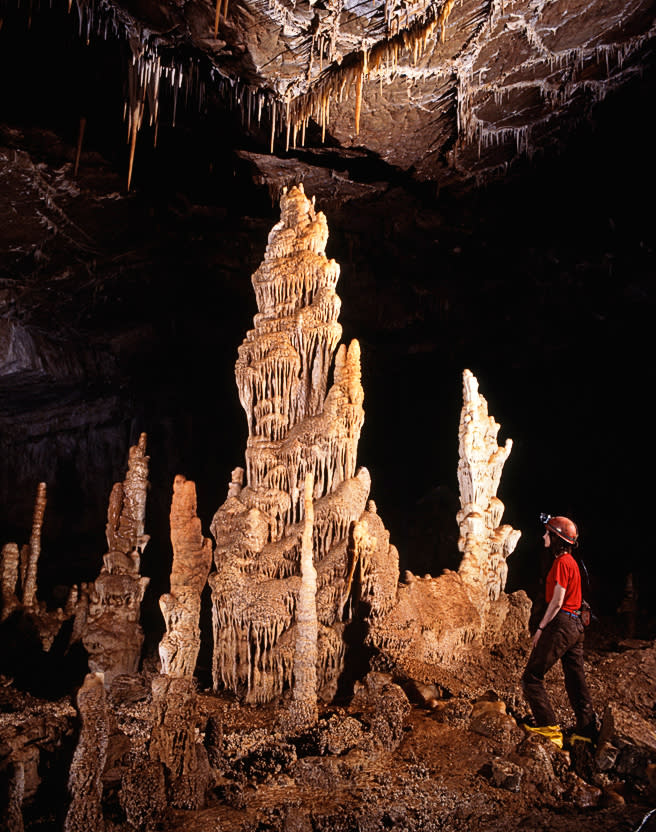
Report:
[[[576,714],[576,728],[584,731],[595,722],[590,691],[583,670],[583,624],[562,610],[542,631],[522,676],[522,688],[535,724],[557,725],[556,715],[544,688],[544,675],[560,659],[565,689]]]

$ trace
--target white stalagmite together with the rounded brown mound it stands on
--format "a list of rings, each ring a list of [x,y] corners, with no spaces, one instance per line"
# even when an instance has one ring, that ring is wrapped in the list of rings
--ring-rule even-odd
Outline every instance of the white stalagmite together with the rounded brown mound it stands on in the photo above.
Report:
[[[500,526],[503,503],[496,493],[504,462],[512,447],[497,445],[499,425],[488,415],[487,402],[469,370],[463,374],[464,401],[460,416],[458,482],[461,509],[457,572],[419,578],[406,572],[398,603],[374,619],[368,635],[406,675],[422,682],[438,681],[442,672],[468,652],[526,636],[531,603],[522,591],[506,595],[506,558],[521,532]]]

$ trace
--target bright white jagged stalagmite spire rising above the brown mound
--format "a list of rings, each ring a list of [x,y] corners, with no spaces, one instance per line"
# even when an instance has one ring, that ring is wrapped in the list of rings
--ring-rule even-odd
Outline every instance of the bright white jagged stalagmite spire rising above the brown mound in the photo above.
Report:
[[[507,439],[503,448],[497,445],[499,425],[488,415],[487,402],[478,392],[478,381],[469,370],[463,373],[463,393],[457,515],[458,548],[463,557],[458,573],[469,586],[480,588],[496,601],[506,586],[506,558],[515,550],[521,536],[511,526],[501,525],[504,506],[497,497],[512,440]]]

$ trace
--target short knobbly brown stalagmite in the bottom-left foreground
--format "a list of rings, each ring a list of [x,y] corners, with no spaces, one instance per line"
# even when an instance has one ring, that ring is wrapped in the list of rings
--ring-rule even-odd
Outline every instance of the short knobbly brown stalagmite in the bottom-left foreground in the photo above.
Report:
[[[64,832],[103,832],[102,773],[107,759],[110,710],[102,673],[87,674],[77,695],[81,729],[68,777],[71,804]]]

